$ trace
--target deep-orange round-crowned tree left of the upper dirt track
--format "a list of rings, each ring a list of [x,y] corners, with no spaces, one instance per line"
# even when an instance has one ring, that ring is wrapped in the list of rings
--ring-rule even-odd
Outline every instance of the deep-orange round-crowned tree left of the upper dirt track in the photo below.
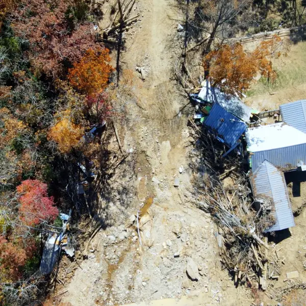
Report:
[[[92,95],[104,91],[114,68],[109,64],[109,49],[97,53],[89,49],[79,63],[69,69],[68,80],[80,92]]]

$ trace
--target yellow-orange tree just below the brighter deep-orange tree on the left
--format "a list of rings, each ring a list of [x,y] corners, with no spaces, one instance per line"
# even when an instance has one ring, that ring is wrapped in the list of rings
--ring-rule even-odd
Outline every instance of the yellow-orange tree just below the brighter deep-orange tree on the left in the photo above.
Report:
[[[49,130],[48,139],[57,142],[62,153],[68,153],[79,144],[84,129],[71,121],[69,110],[59,113],[58,116],[57,123]]]

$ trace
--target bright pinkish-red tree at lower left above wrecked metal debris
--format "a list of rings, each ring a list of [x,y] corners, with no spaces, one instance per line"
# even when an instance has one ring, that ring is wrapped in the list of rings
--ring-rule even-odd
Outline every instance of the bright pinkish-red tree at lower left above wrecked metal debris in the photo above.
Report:
[[[20,220],[29,226],[54,220],[59,211],[53,197],[48,197],[47,185],[38,180],[25,180],[17,187]]]

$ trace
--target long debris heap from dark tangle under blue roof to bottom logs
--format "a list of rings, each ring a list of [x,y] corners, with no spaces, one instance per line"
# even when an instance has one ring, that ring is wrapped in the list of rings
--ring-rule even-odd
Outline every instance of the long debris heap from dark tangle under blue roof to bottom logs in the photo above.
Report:
[[[218,225],[216,237],[222,264],[236,285],[266,290],[267,279],[279,275],[276,264],[273,270],[268,265],[269,247],[263,235],[274,220],[253,209],[243,160],[235,156],[222,158],[226,149],[223,144],[214,141],[205,128],[200,130],[193,122],[192,126],[198,136],[198,159],[207,169],[205,178],[196,175],[195,179],[198,207],[209,212]],[[225,190],[222,180],[227,175],[235,183]]]

